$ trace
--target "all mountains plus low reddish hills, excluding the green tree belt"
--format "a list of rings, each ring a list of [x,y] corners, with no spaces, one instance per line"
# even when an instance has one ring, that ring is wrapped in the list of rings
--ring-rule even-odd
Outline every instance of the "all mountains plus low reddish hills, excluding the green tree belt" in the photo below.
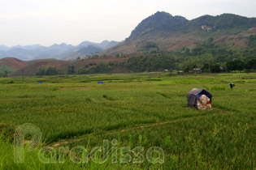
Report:
[[[95,72],[95,69],[99,71],[105,66],[101,63],[106,62],[113,62],[111,66],[119,66],[125,71],[124,62],[129,62],[129,59],[132,58],[134,60],[139,56],[148,57],[151,55],[152,58],[157,59],[155,58],[158,56],[155,55],[156,53],[165,55],[172,51],[182,53],[180,57],[191,56],[193,54],[191,52],[202,49],[202,47],[206,50],[203,52],[208,53],[207,48],[210,47],[207,45],[211,45],[212,48],[223,48],[219,50],[227,52],[228,54],[226,54],[231,55],[232,58],[236,56],[232,56],[232,53],[229,52],[246,48],[248,50],[254,49],[256,45],[256,18],[223,14],[217,16],[203,15],[197,19],[188,20],[182,16],[157,12],[142,20],[123,42],[104,40],[102,43],[93,43],[84,41],[77,46],[63,43],[54,44],[50,47],[41,45],[7,47],[0,45],[0,71],[12,72],[10,75],[13,76],[35,75],[41,66],[53,66],[59,71],[59,74],[67,74],[69,66],[74,66],[77,71],[91,68]],[[88,58],[88,55],[92,53],[97,53],[98,57]],[[199,57],[204,57],[204,53]],[[221,53],[221,51],[216,53]],[[215,61],[215,56],[209,55]],[[252,58],[254,53],[246,53],[246,56]],[[76,61],[77,57],[85,58],[85,60]],[[223,55],[222,57],[227,56]],[[232,58],[228,58],[228,60]],[[143,63],[146,62],[142,59]],[[219,61],[222,61],[221,64],[228,60],[219,57]],[[136,65],[137,62],[134,61],[132,64]],[[115,62],[121,62],[121,64],[118,65]],[[182,60],[180,63],[183,64]],[[108,70],[108,66],[104,68]]]

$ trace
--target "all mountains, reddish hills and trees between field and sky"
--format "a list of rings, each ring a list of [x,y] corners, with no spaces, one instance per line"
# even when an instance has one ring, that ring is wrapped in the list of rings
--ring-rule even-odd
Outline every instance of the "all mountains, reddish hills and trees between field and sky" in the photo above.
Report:
[[[255,70],[252,64],[255,45],[256,18],[223,14],[189,20],[157,12],[143,19],[123,42],[84,41],[76,46],[63,43],[50,47],[1,45],[0,71],[13,76],[35,75],[45,66],[47,69],[55,67],[59,74],[74,74],[71,68],[77,74],[91,74],[190,70],[198,64],[210,71],[236,61],[245,64],[243,69]],[[172,51],[175,53],[170,53]],[[98,55],[87,58],[92,53]],[[76,61],[77,57],[82,60]]]

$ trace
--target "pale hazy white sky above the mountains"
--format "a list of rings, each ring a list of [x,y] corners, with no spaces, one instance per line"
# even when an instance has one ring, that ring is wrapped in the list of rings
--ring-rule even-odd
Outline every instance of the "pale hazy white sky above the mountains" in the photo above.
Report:
[[[124,40],[157,11],[256,17],[256,0],[0,0],[0,45]]]

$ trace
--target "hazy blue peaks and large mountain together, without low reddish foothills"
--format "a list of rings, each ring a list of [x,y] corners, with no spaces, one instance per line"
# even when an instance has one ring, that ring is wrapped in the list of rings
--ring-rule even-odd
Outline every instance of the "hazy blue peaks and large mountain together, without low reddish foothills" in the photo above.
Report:
[[[167,12],[158,11],[142,20],[123,42],[104,40],[102,43],[93,43],[84,41],[77,46],[63,43],[50,47],[0,45],[0,58],[16,57],[24,61],[46,58],[73,60],[76,57],[86,58],[92,53],[99,53],[105,57],[115,57],[116,54],[137,56],[155,50],[154,48],[145,48],[149,42],[157,47],[158,52],[168,53],[181,48],[193,49],[209,38],[213,43],[223,44],[229,48],[246,48],[249,36],[255,34],[256,18],[223,14],[203,15],[189,20],[183,16],[173,16]]]

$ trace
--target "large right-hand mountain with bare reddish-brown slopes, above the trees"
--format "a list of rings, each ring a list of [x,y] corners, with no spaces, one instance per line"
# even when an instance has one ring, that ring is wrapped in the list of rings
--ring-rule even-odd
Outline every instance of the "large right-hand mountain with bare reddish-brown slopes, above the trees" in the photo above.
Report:
[[[142,20],[123,43],[104,50],[102,54],[113,57],[116,54],[139,55],[152,51],[167,53],[180,48],[193,49],[209,38],[215,44],[245,48],[248,47],[249,36],[255,33],[256,18],[223,14],[189,20],[158,11]],[[146,48],[148,43],[155,44],[157,48]]]

